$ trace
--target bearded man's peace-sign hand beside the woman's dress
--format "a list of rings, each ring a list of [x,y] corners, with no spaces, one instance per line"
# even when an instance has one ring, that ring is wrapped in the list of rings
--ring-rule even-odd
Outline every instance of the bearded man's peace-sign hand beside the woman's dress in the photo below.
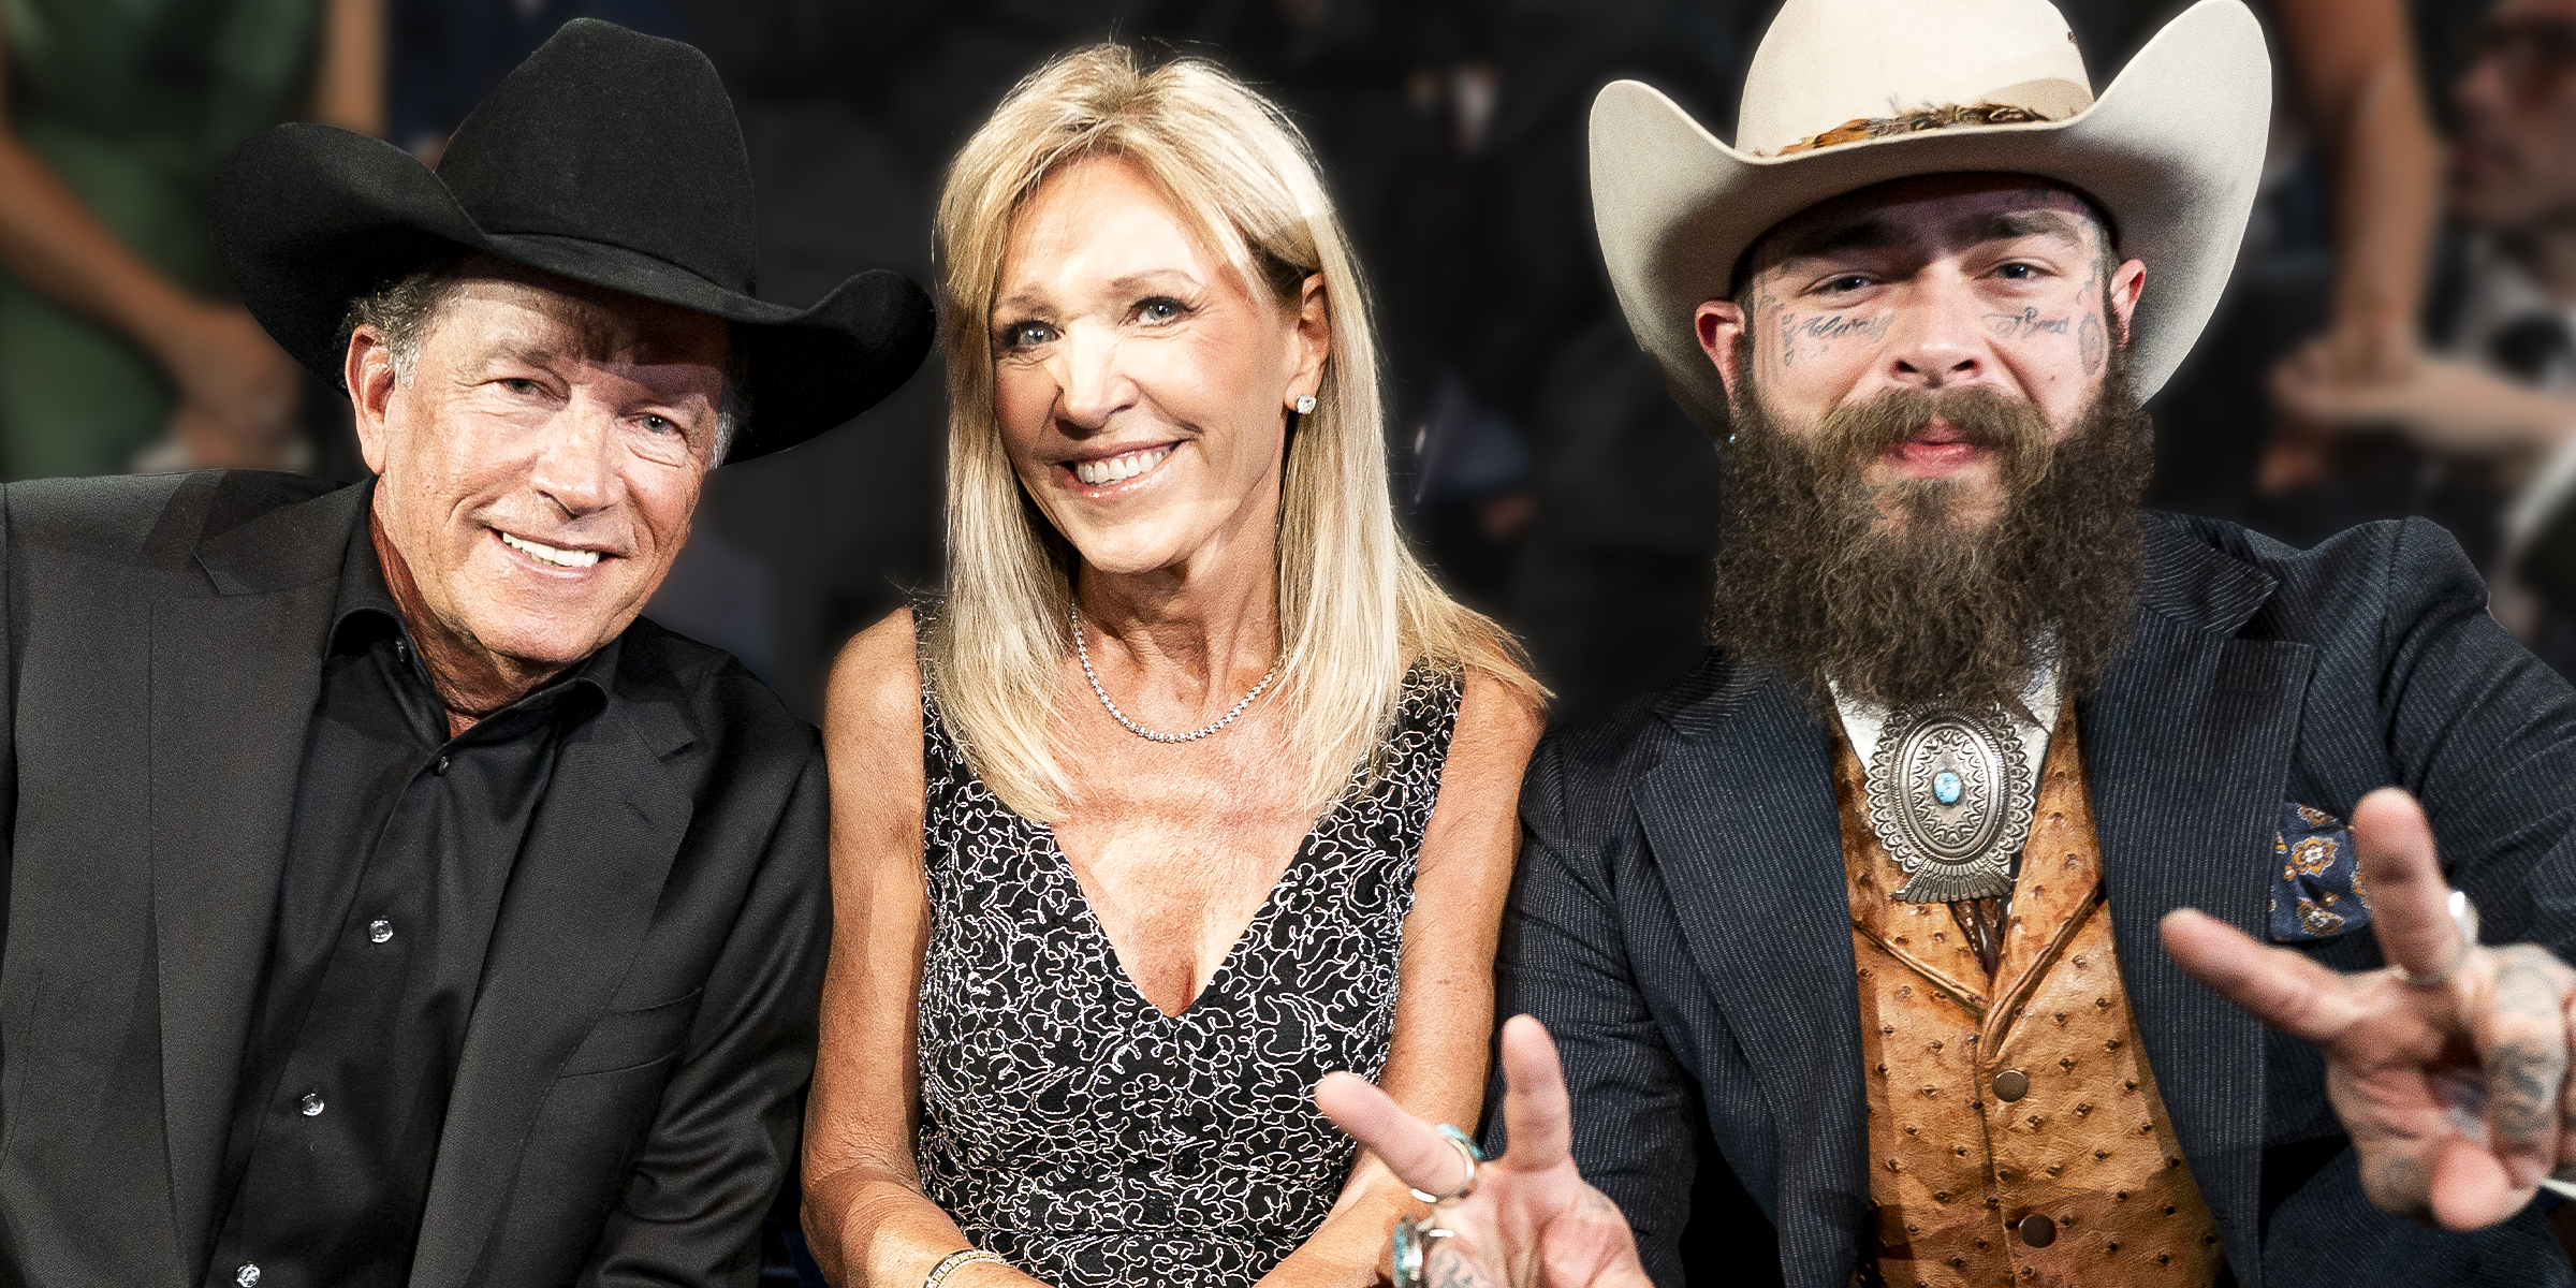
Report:
[[[1422,1265],[1432,1288],[1651,1288],[1628,1218],[1574,1172],[1571,1105],[1556,1043],[1538,1020],[1502,1025],[1502,1121],[1512,1149],[1476,1170],[1476,1193],[1445,1203]],[[1378,1087],[1332,1074],[1316,1105],[1422,1193],[1455,1193],[1466,1177],[1440,1131],[1396,1108]]]

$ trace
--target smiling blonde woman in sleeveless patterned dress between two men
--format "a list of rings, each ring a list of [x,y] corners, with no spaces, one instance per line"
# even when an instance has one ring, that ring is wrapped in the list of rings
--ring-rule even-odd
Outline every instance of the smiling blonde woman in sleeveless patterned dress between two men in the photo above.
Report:
[[[1406,556],[1262,98],[1115,46],[940,198],[948,592],[832,677],[806,1231],[840,1283],[1363,1285],[1327,1072],[1468,1123],[1538,688]]]

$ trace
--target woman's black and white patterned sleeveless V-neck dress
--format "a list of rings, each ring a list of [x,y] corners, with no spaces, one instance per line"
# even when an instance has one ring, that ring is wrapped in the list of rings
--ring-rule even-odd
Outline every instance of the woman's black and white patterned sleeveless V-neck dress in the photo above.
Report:
[[[1059,1288],[1242,1288],[1314,1234],[1355,1146],[1311,1092],[1386,1069],[1455,721],[1458,677],[1414,667],[1383,778],[1316,822],[1190,1010],[1164,1015],[1054,829],[992,796],[922,685],[917,1159],[976,1247]]]

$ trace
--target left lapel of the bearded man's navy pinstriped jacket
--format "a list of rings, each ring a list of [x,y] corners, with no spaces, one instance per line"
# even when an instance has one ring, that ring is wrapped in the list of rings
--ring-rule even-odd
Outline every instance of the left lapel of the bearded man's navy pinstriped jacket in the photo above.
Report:
[[[1772,1108],[1775,1218],[1850,1242],[1834,1265],[1790,1267],[1793,1283],[1842,1285],[1868,1221],[1868,1141],[1832,734],[1777,680],[1741,670],[1674,724],[1685,739],[1638,786],[1638,819],[1700,981]]]

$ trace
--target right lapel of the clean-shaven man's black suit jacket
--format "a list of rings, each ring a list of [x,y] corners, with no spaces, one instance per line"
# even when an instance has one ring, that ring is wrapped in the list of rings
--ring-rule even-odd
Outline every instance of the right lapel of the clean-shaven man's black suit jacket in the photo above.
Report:
[[[474,1278],[556,1069],[644,943],[690,801],[662,768],[685,742],[613,701],[564,737],[484,958],[412,1257],[415,1288]]]

